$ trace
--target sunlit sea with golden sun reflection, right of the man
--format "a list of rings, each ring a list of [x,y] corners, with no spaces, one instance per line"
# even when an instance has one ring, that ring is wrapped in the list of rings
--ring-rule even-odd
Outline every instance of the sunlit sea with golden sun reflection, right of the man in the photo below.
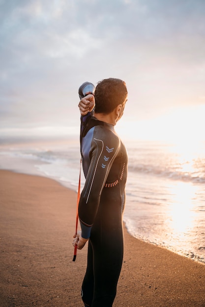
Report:
[[[187,136],[138,146],[143,150],[136,147],[129,155],[129,229],[136,237],[205,262],[205,142]]]

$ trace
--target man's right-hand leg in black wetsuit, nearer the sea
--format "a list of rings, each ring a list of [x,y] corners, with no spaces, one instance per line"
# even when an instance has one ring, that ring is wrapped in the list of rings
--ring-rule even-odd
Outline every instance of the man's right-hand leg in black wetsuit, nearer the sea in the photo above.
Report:
[[[107,219],[96,222],[91,237],[94,273],[91,307],[112,307],[122,265],[123,230],[119,220],[114,221],[112,227]]]

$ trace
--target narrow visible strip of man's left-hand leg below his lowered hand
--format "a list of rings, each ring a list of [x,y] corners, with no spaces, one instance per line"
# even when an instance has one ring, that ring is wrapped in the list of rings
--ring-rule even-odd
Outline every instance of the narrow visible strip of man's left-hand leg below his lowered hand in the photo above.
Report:
[[[90,242],[88,242],[88,264],[87,264],[86,275],[84,277],[81,289],[81,297],[86,307],[92,305],[93,287],[94,287],[93,253],[92,253],[92,246]]]

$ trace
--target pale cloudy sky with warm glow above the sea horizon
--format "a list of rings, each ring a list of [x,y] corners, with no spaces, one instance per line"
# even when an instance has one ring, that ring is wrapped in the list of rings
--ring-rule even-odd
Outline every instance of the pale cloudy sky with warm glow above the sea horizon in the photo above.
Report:
[[[117,77],[119,134],[204,138],[204,0],[0,0],[0,134],[78,133],[78,88]]]

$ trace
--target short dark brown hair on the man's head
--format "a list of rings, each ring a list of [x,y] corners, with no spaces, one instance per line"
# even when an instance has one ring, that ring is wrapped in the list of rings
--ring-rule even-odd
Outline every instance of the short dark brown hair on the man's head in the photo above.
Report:
[[[95,113],[111,113],[127,97],[124,81],[108,78],[99,81],[95,89]]]

